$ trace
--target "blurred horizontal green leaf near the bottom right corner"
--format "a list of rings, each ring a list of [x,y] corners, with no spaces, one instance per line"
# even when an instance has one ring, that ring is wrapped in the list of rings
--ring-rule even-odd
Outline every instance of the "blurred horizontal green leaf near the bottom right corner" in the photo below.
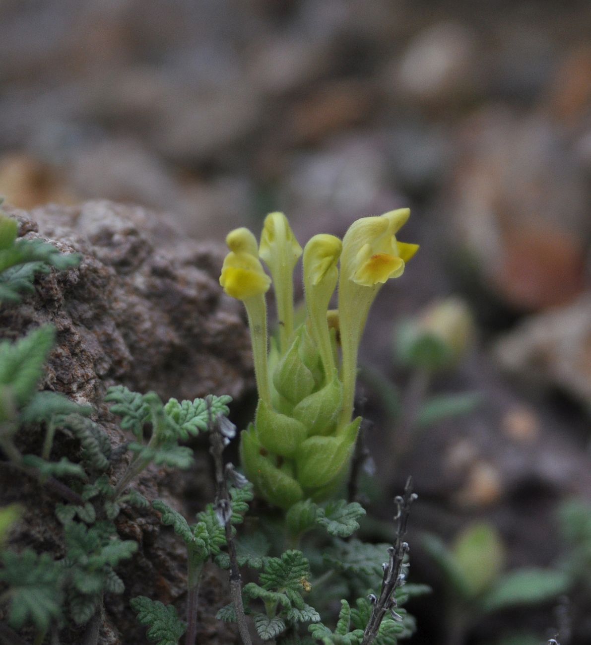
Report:
[[[565,593],[570,579],[563,571],[530,568],[506,574],[482,599],[486,613],[523,604],[538,604]]]

